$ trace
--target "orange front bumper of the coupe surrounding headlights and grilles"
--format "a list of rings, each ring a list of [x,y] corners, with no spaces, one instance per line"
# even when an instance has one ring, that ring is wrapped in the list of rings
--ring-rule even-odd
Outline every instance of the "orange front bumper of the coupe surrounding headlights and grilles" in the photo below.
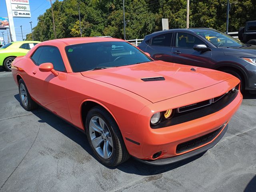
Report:
[[[214,136],[214,139],[209,140],[207,143],[200,144],[200,146],[195,146],[183,152],[177,151],[180,144],[200,138],[206,134],[210,134],[228,123],[242,103],[242,94],[240,92],[238,92],[234,100],[224,108],[218,109],[218,111],[212,114],[205,114],[205,116],[195,118],[194,120],[189,120],[187,122],[182,122],[180,124],[153,129],[149,124],[150,117],[152,116],[152,113],[154,114],[155,112],[163,111],[163,109],[175,108],[174,105],[176,107],[180,107],[196,103],[198,100],[202,101],[210,99],[212,98],[213,93],[214,96],[222,95],[226,90],[231,90],[238,83],[239,81],[237,78],[232,78],[228,81],[222,82],[221,84],[216,84],[208,88],[146,106],[138,115],[133,132],[122,133],[128,152],[131,156],[146,162],[152,162],[153,160],[154,162],[158,162],[160,161],[158,159],[166,158],[172,159],[172,161],[175,162],[175,159],[184,159],[184,157],[190,157],[192,156],[190,154],[196,153],[192,153],[192,151],[199,151],[198,153],[200,153],[201,150],[199,150],[199,148],[203,148],[212,142],[218,142],[216,139],[219,138],[220,134],[224,134],[224,130],[218,132],[218,134]],[[220,138],[221,137],[222,136],[220,136]],[[161,152],[161,155],[155,158],[154,154],[157,152]],[[156,161],[156,159],[158,161]]]

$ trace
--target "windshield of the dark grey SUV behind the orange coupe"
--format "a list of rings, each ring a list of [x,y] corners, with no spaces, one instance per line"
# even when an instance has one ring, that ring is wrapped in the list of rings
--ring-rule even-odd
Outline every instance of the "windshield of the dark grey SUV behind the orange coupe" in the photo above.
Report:
[[[231,36],[224,34],[222,32],[218,31],[212,31],[212,30],[193,30],[200,36],[206,38],[208,41],[210,41],[212,44],[214,44],[218,48],[223,47],[240,47],[244,46],[242,42],[236,40],[235,38],[232,38]]]

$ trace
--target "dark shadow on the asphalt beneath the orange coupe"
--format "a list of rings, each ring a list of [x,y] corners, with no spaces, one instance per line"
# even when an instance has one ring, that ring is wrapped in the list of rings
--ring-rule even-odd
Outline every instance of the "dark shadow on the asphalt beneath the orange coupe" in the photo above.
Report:
[[[20,102],[20,105],[21,105],[19,94],[14,95],[14,98],[16,98],[16,100]],[[49,112],[42,107],[38,107],[38,109],[32,110],[31,112],[34,115],[36,115],[38,118],[40,118],[38,122],[47,123],[54,129],[58,130],[60,133],[64,134],[65,136],[67,136],[68,138],[76,142],[78,145],[80,145],[84,150],[86,150],[86,152],[88,152],[88,154],[90,154],[94,159],[96,159],[96,156],[93,154],[92,149],[90,148],[86,134],[80,132],[79,130],[74,128],[74,126],[70,125],[68,122],[62,120],[52,112]],[[186,160],[182,160],[177,163],[164,165],[164,166],[153,166],[149,164],[144,164],[142,162],[135,160],[134,158],[130,158],[128,161],[120,164],[119,166],[107,167],[107,168],[118,169],[129,174],[152,176],[152,175],[167,172],[167,171],[176,169],[178,167],[181,167],[185,164],[188,164],[200,158],[204,153],[194,156],[192,158],[188,158]]]

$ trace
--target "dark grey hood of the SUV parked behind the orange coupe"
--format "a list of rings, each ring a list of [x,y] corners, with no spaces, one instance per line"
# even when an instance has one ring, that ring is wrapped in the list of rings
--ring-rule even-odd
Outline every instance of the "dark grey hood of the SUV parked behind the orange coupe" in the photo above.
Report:
[[[223,52],[227,56],[236,57],[256,57],[256,46],[251,45],[241,48],[222,48]]]

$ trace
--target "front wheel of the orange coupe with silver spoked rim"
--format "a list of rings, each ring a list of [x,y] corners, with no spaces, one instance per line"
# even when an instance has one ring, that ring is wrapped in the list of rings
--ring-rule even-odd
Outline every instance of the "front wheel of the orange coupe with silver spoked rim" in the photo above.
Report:
[[[130,157],[116,121],[103,107],[88,112],[86,134],[95,156],[105,166],[117,166]]]

